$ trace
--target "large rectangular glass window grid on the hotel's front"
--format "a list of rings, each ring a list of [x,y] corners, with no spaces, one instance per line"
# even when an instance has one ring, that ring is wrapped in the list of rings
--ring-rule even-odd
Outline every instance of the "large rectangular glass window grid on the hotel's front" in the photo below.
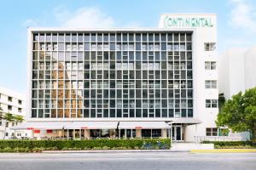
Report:
[[[32,117],[193,116],[191,36],[35,34]]]

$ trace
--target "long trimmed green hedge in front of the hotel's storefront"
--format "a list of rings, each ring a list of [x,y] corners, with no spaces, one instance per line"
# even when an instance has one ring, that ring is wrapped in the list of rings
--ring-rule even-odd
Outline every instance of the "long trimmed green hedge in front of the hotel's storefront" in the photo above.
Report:
[[[0,140],[0,152],[148,149],[143,144],[150,144],[152,149],[162,148],[159,144],[166,146],[164,149],[170,149],[170,139]]]

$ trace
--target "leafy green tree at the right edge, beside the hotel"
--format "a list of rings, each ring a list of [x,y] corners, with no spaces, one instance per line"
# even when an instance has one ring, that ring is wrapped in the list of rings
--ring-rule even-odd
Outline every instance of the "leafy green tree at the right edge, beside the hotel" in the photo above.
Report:
[[[233,95],[218,113],[218,127],[229,127],[234,132],[247,131],[256,141],[256,88]]]

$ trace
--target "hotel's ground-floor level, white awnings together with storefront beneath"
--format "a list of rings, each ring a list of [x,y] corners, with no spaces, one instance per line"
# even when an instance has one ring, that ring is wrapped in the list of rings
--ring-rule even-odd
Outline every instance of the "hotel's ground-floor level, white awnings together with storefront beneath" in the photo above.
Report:
[[[185,141],[186,124],[170,122],[26,122],[32,139],[170,139]]]

